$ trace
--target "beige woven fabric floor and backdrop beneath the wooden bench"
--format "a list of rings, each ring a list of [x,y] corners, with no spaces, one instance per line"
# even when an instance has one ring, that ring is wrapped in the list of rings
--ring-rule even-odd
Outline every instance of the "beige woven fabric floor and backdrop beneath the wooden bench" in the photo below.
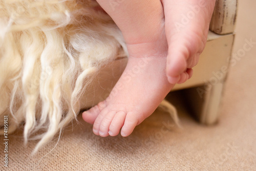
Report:
[[[240,1],[234,52],[246,38],[256,41],[256,22],[250,18],[256,16],[255,6],[254,0]],[[66,129],[51,152],[56,140],[33,157],[36,142],[25,147],[17,132],[9,136],[8,169],[0,137],[0,170],[256,170],[255,54],[256,45],[231,67],[216,125],[196,122],[175,92],[170,96],[183,129],[160,110],[127,138],[95,136],[92,126],[81,120]]]

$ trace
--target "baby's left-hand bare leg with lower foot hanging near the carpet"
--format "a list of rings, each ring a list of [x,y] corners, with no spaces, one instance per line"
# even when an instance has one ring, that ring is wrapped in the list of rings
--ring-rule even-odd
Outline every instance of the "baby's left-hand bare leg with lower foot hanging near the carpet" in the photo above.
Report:
[[[130,57],[110,96],[83,113],[102,137],[128,136],[173,88],[165,73],[167,41],[160,1],[98,0],[123,33]],[[114,5],[113,5],[114,3]]]

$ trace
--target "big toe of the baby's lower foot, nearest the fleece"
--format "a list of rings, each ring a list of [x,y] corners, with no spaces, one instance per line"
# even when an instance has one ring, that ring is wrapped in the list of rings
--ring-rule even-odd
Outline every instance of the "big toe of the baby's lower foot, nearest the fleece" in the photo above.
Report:
[[[90,124],[93,124],[95,122],[95,119],[97,118],[99,113],[105,108],[105,106],[106,106],[105,101],[102,101],[102,102],[99,102],[90,110],[84,111],[82,113],[83,120]]]

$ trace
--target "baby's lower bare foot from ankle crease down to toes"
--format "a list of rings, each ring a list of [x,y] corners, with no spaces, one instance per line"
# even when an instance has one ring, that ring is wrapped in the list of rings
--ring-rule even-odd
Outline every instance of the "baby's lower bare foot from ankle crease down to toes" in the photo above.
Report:
[[[155,111],[174,86],[167,81],[165,74],[166,45],[159,42],[128,47],[137,49],[137,52],[160,50],[147,57],[130,56],[110,96],[83,113],[85,121],[94,123],[94,134],[102,137],[116,136],[120,129],[123,137],[129,136],[136,125]],[[136,54],[149,54],[142,51]]]

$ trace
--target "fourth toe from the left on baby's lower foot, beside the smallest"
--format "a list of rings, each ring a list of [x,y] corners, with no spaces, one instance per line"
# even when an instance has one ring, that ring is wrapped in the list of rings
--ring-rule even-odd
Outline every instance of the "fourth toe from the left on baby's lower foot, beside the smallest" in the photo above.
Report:
[[[117,136],[119,134],[119,131],[123,126],[125,116],[126,116],[126,113],[123,111],[120,111],[115,115],[109,127],[110,136]]]

